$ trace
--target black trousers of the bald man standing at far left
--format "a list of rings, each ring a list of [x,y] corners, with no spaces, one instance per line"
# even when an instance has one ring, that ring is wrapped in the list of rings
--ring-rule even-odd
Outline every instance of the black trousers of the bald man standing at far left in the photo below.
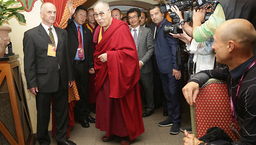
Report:
[[[57,141],[66,141],[68,127],[68,89],[64,89],[59,81],[59,88],[54,93],[36,93],[37,109],[37,141],[40,144],[50,144],[48,124],[50,120],[50,102],[53,98]]]

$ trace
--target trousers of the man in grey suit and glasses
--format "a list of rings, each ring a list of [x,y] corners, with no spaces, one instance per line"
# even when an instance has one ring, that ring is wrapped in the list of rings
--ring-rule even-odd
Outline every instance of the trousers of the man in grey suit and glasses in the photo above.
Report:
[[[146,110],[152,111],[154,109],[154,98],[153,98],[153,72],[146,74],[140,73],[140,83],[146,94]]]

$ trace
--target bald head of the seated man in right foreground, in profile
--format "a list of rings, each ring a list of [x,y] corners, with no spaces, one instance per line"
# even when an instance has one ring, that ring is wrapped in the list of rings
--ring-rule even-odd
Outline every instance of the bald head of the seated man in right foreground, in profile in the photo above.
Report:
[[[230,19],[215,31],[212,49],[216,62],[228,65],[230,70],[253,56],[256,31],[246,19]]]

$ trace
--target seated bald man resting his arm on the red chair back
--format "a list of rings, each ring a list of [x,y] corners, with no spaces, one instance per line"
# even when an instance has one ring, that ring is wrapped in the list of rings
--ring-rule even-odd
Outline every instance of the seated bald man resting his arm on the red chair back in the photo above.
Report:
[[[226,80],[231,107],[234,110],[232,120],[239,124],[239,141],[232,144],[255,144],[256,142],[256,65],[253,48],[256,42],[256,31],[246,19],[231,19],[222,23],[215,31],[212,49],[216,52],[216,62],[228,67],[200,71],[194,75],[182,89],[187,102],[192,106],[201,87],[209,78]],[[238,94],[238,95],[236,95]],[[232,122],[231,122],[232,125]],[[193,144],[193,135],[185,131],[184,144]],[[194,139],[195,144],[199,140]],[[200,144],[219,144],[216,143]]]

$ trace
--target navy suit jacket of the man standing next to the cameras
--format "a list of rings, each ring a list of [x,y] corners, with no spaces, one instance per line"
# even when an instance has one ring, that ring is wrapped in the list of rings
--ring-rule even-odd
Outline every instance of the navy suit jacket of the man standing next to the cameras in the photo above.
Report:
[[[176,61],[178,41],[177,38],[172,37],[170,34],[164,34],[165,25],[172,24],[167,19],[164,19],[161,23],[155,36],[155,54],[159,71],[162,74],[169,74],[172,73],[172,69],[178,69]]]

